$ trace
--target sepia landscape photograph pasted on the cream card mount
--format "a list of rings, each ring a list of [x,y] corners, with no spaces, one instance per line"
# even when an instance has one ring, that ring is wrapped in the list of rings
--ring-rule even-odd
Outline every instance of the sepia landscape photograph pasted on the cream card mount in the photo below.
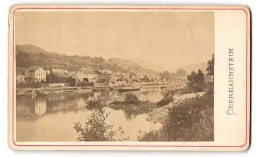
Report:
[[[16,141],[214,141],[214,16],[16,12]]]

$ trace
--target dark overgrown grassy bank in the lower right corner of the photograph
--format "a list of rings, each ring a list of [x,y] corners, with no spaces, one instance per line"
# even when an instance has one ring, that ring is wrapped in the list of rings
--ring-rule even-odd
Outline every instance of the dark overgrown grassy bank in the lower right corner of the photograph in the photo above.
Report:
[[[142,134],[139,141],[214,141],[214,88],[168,109],[160,130]]]

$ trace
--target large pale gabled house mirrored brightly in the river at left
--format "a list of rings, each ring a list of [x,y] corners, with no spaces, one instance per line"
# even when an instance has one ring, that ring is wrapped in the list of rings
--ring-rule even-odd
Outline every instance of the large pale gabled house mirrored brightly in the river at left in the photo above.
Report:
[[[41,67],[31,66],[28,68],[29,78],[32,82],[45,82],[46,71]]]

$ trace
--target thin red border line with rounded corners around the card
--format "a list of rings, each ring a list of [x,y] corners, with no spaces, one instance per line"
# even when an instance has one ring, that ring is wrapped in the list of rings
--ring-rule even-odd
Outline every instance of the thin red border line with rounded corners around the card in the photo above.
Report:
[[[241,10],[241,11],[244,11],[246,13],[246,117],[245,117],[245,143],[242,144],[242,145],[239,145],[239,146],[223,146],[223,145],[220,145],[220,146],[196,146],[196,145],[22,145],[22,144],[16,144],[15,143],[15,140],[14,140],[14,15],[15,15],[15,12],[19,9],[86,9],[86,10],[89,10],[89,9],[101,9],[101,10],[108,10],[108,9],[111,9],[111,10]],[[247,143],[247,132],[248,132],[248,128],[247,128],[247,117],[248,117],[248,13],[245,9],[243,8],[72,8],[72,7],[58,7],[58,8],[44,8],[44,7],[24,7],[24,8],[16,8],[14,9],[13,11],[13,39],[12,39],[12,42],[13,42],[13,48],[12,48],[12,51],[13,51],[13,71],[12,71],[12,142],[14,145],[16,146],[28,146],[28,147],[33,147],[33,146],[37,146],[37,147],[53,147],[53,146],[57,146],[57,147],[63,147],[63,146],[68,146],[68,147],[71,147],[71,146],[74,146],[74,147],[244,147]]]

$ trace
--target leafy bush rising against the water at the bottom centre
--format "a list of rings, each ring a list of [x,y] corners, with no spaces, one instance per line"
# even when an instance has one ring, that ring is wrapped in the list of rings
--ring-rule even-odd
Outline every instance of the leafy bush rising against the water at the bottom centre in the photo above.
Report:
[[[110,113],[106,113],[102,106],[98,106],[82,126],[80,122],[74,123],[74,129],[79,134],[77,141],[127,141],[129,137],[123,137],[121,127],[118,132],[113,125],[106,124],[105,120]],[[119,133],[119,134],[118,134]]]

